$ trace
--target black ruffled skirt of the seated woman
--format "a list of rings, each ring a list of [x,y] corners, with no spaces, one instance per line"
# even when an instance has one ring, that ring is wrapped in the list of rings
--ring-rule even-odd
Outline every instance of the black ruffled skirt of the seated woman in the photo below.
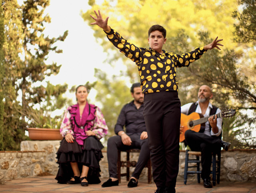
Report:
[[[76,162],[78,163],[80,173],[82,173],[83,165],[89,167],[87,175],[89,184],[100,183],[99,161],[103,157],[102,148],[102,143],[95,136],[85,139],[83,148],[76,140],[74,140],[74,143],[68,143],[63,138],[60,142],[60,148],[56,153],[59,169],[55,179],[58,183],[67,183],[74,175],[70,162]]]

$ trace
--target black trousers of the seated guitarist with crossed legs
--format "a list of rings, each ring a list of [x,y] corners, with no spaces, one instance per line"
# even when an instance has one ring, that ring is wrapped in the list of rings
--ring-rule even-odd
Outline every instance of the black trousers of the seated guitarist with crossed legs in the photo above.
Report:
[[[221,139],[188,129],[185,132],[185,142],[192,151],[201,151],[201,177],[210,179],[212,152],[220,151]]]

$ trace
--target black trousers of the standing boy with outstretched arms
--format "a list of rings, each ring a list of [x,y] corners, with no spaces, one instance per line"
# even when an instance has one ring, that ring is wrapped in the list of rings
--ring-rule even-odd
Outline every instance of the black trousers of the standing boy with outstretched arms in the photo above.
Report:
[[[180,99],[178,92],[144,95],[153,179],[157,187],[175,187],[179,170]]]

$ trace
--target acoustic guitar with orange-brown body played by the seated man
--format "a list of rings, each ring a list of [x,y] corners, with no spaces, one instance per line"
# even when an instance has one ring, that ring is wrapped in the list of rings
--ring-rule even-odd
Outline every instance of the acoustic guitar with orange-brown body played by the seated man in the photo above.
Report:
[[[222,111],[217,115],[217,118],[220,117],[232,117],[236,114],[236,110],[234,109],[229,109],[226,111]],[[210,115],[211,116],[215,116],[215,115]],[[180,126],[183,126],[182,129],[180,129],[180,142],[185,140],[185,132],[188,129],[191,129],[192,131],[196,131],[198,132],[200,130],[201,125],[205,124],[208,121],[209,117],[204,117],[202,114],[200,113],[191,113],[190,115],[185,115],[183,113],[181,113],[180,116]]]

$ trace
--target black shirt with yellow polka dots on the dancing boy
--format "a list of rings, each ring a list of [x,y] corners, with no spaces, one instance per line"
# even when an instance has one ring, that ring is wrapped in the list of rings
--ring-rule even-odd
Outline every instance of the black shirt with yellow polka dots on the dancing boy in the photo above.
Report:
[[[143,93],[177,91],[176,67],[189,66],[191,62],[198,60],[206,52],[204,47],[182,55],[162,50],[159,54],[151,48],[138,48],[130,44],[111,29],[105,31],[108,40],[120,50],[126,57],[136,62]]]

